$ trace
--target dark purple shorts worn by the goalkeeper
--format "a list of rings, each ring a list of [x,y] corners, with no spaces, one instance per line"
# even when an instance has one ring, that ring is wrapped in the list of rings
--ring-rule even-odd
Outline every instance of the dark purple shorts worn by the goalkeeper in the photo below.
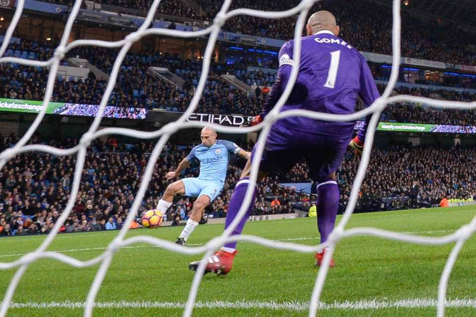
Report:
[[[259,170],[289,171],[301,159],[309,165],[308,176],[324,182],[341,165],[351,136],[328,136],[290,130],[274,124],[266,139]],[[256,151],[254,146],[251,159]]]

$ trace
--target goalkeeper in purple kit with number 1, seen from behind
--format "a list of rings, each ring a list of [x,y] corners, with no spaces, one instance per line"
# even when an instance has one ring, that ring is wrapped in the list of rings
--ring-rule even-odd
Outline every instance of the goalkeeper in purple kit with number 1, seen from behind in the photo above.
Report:
[[[307,21],[306,32],[307,36],[301,40],[297,80],[281,111],[306,109],[349,114],[355,111],[357,95],[360,95],[367,106],[380,97],[364,57],[338,37],[339,26],[336,25],[332,13],[314,13]],[[252,125],[261,122],[281,97],[294,65],[293,46],[294,40],[291,40],[281,48],[276,81],[262,112],[251,121]],[[335,172],[348,146],[361,153],[369,120],[370,116],[365,119],[365,125],[352,141],[355,121],[327,122],[306,117],[290,117],[277,121],[266,139],[258,181],[271,171],[286,171],[300,159],[307,159],[309,176],[317,183],[317,227],[321,243],[327,241],[334,229],[339,205]],[[255,149],[251,152],[251,159],[247,161],[233,192],[225,228],[228,228],[236,217],[244,199]],[[240,234],[243,230],[255,197],[256,190],[246,215],[241,218],[233,235]],[[322,250],[314,256],[316,266],[320,266],[325,252],[326,250]],[[226,244],[207,259],[206,272],[228,273],[236,253],[236,242]],[[198,264],[199,262],[192,262],[189,268],[196,270]],[[331,266],[334,266],[334,261]]]

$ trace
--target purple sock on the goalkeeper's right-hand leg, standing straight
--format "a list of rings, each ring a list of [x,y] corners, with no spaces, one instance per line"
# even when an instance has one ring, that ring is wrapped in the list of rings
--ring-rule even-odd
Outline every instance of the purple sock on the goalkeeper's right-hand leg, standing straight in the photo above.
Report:
[[[317,228],[321,234],[321,243],[334,229],[337,210],[339,208],[339,187],[337,182],[329,179],[317,185]]]

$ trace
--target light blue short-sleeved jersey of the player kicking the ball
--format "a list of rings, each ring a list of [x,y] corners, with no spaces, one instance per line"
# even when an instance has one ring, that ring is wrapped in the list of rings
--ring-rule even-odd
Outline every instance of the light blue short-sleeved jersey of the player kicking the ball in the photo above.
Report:
[[[237,154],[239,150],[241,149],[233,142],[217,140],[209,148],[203,144],[197,145],[187,156],[187,160],[191,162],[197,159],[200,162],[198,179],[225,182],[230,154]]]

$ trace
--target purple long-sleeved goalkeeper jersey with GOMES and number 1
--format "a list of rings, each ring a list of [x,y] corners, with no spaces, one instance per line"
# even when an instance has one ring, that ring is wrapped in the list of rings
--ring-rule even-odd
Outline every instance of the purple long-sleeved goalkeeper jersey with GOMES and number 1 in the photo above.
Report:
[[[279,52],[276,82],[268,95],[261,116],[275,106],[283,93],[294,64],[294,40]],[[305,109],[316,112],[349,114],[355,112],[357,96],[366,106],[380,97],[370,69],[362,54],[330,31],[320,31],[301,41],[301,58],[296,84],[281,111]],[[359,131],[364,141],[366,124]],[[329,122],[306,117],[290,117],[276,125],[287,129],[329,136],[351,136],[356,122]]]

